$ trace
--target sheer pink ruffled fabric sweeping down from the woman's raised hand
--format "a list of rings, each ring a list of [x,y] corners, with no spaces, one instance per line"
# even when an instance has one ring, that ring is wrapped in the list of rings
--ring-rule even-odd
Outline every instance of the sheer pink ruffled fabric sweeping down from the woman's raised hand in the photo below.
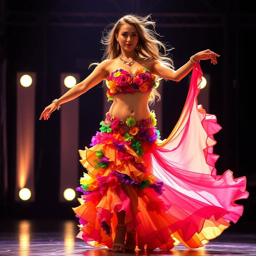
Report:
[[[198,105],[202,75],[196,62],[180,119],[170,136],[164,142],[157,141],[152,152],[152,174],[164,182],[164,202],[175,206],[170,208],[170,214],[183,220],[188,217],[190,221],[186,228],[191,231],[187,232],[186,239],[192,236],[193,222],[200,221],[201,214],[209,217],[215,212],[215,218],[223,217],[227,222],[236,223],[242,216],[243,206],[234,201],[249,195],[245,190],[245,176],[234,179],[231,170],[216,174],[218,155],[213,154],[216,144],[213,134],[221,126],[216,116],[206,114],[202,105]],[[198,220],[196,216],[189,218],[195,212]]]

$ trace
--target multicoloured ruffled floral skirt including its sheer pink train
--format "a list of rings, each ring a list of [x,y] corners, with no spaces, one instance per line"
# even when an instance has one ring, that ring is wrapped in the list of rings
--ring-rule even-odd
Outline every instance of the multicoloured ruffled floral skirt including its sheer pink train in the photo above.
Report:
[[[140,121],[106,113],[92,147],[78,150],[88,173],[76,188],[83,193],[80,206],[72,208],[77,238],[112,248],[116,212],[124,210],[127,231],[137,232],[136,248],[170,250],[182,243],[194,249],[242,216],[235,201],[248,198],[246,177],[216,174],[213,134],[221,127],[197,104],[201,77],[197,62],[180,119],[163,141],[154,111]]]

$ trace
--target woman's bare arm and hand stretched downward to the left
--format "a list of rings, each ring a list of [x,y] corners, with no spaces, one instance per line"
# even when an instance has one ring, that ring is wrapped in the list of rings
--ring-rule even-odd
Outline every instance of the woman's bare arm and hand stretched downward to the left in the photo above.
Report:
[[[104,60],[101,62],[96,68],[92,71],[92,73],[86,77],[82,82],[79,84],[76,84],[74,87],[72,87],[68,92],[63,94],[57,101],[58,104],[61,105],[65,102],[68,102],[70,100],[74,100],[81,94],[84,94],[90,88],[94,87],[96,84],[101,82],[103,79],[108,78],[108,72],[106,71],[106,66],[108,65],[109,60]],[[55,102],[52,102],[49,106],[47,106],[44,111],[42,112],[39,120],[44,117],[44,120],[48,120],[50,117],[50,114],[56,110],[57,105]]]

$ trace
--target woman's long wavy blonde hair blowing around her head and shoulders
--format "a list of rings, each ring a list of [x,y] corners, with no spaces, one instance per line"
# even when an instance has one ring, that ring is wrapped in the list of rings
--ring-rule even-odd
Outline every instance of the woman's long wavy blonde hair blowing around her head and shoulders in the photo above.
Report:
[[[104,55],[102,61],[106,59],[114,59],[120,55],[121,49],[117,50],[117,40],[115,34],[118,34],[120,26],[128,23],[135,26],[139,40],[139,49],[135,48],[135,52],[139,57],[149,57],[160,60],[164,65],[174,69],[174,62],[168,56],[168,51],[174,49],[167,49],[164,43],[156,39],[156,36],[160,36],[156,33],[155,23],[151,19],[151,14],[145,17],[138,16],[135,14],[128,14],[120,18],[116,23],[110,24],[102,34],[102,44],[104,44]],[[147,26],[152,25],[154,30],[150,30]],[[106,34],[106,35],[105,35]],[[161,48],[164,50],[164,54],[161,53]],[[96,64],[96,63],[93,63]],[[93,65],[91,64],[91,65]],[[90,66],[91,66],[90,65]],[[157,81],[160,82],[162,78],[158,78]],[[158,97],[158,101],[161,99],[161,95],[156,88],[152,88],[152,98],[149,100],[149,104],[155,103],[155,98]]]

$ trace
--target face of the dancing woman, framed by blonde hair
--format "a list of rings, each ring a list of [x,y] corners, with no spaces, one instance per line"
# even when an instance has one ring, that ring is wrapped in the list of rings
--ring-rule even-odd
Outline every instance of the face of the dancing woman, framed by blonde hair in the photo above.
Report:
[[[128,23],[120,26],[120,30],[118,34],[116,34],[116,40],[118,40],[120,47],[123,50],[134,50],[139,40],[139,36],[135,26]]]

